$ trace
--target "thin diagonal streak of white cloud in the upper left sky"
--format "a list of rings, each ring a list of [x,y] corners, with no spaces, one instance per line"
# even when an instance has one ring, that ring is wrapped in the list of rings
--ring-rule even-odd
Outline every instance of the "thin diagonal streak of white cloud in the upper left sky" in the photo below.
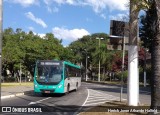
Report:
[[[29,19],[31,19],[32,21],[34,21],[34,22],[36,22],[37,24],[41,25],[43,28],[47,28],[46,23],[45,23],[42,19],[35,17],[35,16],[32,14],[32,12],[27,12],[25,15],[26,15]]]

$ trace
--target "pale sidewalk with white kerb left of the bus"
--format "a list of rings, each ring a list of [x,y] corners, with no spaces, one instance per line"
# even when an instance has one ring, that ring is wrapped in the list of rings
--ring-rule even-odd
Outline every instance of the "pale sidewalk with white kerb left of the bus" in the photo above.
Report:
[[[1,87],[1,99],[24,95],[31,91],[33,91],[33,86],[19,85],[19,86]]]

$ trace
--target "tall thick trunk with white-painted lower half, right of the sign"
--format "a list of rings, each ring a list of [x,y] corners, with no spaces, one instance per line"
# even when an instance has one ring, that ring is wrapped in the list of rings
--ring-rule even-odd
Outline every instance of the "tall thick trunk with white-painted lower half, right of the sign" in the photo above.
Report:
[[[139,2],[139,1],[138,1]],[[138,14],[137,4],[130,0],[130,32],[128,50],[128,88],[127,99],[129,106],[139,103],[139,71],[138,71]]]

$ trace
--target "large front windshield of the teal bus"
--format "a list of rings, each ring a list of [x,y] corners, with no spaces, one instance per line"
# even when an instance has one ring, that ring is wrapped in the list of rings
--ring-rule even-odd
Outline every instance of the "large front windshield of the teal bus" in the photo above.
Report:
[[[39,65],[36,80],[40,84],[58,84],[62,80],[60,65]]]

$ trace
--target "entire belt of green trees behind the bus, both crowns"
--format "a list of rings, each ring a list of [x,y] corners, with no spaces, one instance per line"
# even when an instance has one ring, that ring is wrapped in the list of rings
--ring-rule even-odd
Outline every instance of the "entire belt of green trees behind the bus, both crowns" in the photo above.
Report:
[[[104,38],[100,41],[96,38]],[[33,75],[33,67],[36,60],[66,60],[72,63],[98,71],[99,60],[103,72],[112,70],[115,51],[108,51],[106,44],[108,35],[96,33],[83,36],[72,42],[69,47],[63,47],[62,40],[54,37],[52,33],[46,33],[44,38],[34,35],[32,31],[25,33],[20,28],[14,31],[12,28],[3,32],[2,64],[3,70],[9,70],[11,76],[18,73],[20,65],[22,71],[29,71]],[[93,68],[92,68],[93,67]],[[102,71],[102,70],[101,70]],[[102,73],[103,74],[103,73]]]

